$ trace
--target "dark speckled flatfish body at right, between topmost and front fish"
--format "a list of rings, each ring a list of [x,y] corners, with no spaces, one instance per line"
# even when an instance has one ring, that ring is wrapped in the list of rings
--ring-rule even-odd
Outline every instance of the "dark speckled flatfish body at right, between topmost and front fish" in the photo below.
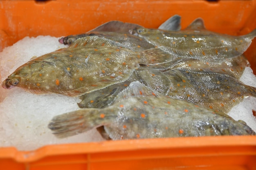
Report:
[[[172,84],[167,95],[211,108],[215,112],[228,113],[245,97],[256,97],[256,88],[227,74],[180,68],[165,75]]]

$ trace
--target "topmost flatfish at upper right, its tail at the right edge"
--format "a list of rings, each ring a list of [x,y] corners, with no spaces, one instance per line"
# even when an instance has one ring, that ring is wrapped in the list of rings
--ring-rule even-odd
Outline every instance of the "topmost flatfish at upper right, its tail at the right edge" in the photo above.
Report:
[[[243,54],[256,36],[256,29],[242,36],[219,34],[207,31],[199,18],[182,31],[140,27],[130,30],[130,33],[155,46],[164,46],[164,50],[173,56],[221,63]]]

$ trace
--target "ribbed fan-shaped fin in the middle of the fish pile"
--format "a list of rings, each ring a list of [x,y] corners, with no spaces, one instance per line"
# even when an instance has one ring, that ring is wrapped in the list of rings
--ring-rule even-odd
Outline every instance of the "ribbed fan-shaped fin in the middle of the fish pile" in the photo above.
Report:
[[[138,68],[138,77],[146,86],[166,95],[170,91],[171,81],[161,71],[156,69]]]

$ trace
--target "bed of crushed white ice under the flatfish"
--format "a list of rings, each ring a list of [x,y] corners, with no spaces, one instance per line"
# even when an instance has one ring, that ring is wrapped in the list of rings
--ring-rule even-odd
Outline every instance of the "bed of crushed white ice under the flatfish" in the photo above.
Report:
[[[50,36],[26,37],[0,52],[0,84],[32,57],[66,47],[58,38]],[[256,76],[251,68],[246,68],[241,80],[251,86],[256,84]],[[55,115],[77,110],[78,98],[63,95],[36,95],[21,88],[6,90],[0,87],[0,147],[15,146],[18,150],[35,150],[48,144],[91,142],[104,140],[97,130],[57,139],[47,128]],[[247,97],[234,107],[229,115],[241,119],[256,131],[256,98]]]

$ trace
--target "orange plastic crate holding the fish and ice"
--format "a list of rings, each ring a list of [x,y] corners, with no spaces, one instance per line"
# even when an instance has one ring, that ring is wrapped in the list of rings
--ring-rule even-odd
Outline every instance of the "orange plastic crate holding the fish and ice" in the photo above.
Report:
[[[25,36],[85,33],[110,20],[157,28],[174,14],[211,31],[256,29],[256,0],[1,0],[0,51]],[[256,71],[256,40],[245,52]],[[15,135],[15,134],[13,134]],[[0,170],[256,170],[256,137],[184,137],[0,148]]]

